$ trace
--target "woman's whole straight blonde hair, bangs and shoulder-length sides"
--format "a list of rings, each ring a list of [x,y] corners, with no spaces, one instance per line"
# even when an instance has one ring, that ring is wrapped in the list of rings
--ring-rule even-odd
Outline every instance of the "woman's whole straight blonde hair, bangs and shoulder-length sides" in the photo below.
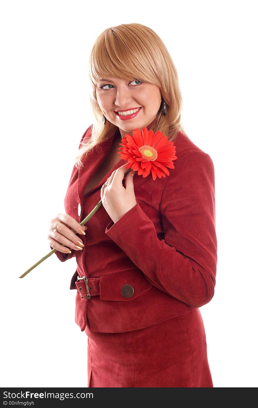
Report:
[[[75,166],[82,166],[82,157],[96,144],[111,137],[117,126],[106,120],[96,97],[95,86],[101,78],[135,78],[159,87],[167,106],[162,103],[152,130],[159,130],[173,141],[178,131],[184,131],[181,121],[182,96],[174,62],[159,36],[149,27],[138,23],[121,24],[103,31],[95,41],[89,58],[89,79],[92,85],[90,106],[95,117],[91,137],[81,143]]]

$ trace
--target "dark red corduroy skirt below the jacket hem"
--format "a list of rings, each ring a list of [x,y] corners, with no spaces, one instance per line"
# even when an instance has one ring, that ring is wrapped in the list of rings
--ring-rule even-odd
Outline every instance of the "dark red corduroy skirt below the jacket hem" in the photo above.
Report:
[[[88,336],[88,387],[213,387],[198,308],[125,333]]]

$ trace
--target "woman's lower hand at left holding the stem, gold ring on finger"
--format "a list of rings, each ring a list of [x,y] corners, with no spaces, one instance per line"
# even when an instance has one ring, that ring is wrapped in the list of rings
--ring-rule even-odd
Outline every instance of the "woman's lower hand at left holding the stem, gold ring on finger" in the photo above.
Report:
[[[55,224],[57,224],[57,231],[53,231]],[[75,251],[82,250],[84,244],[76,234],[85,235],[84,231],[86,229],[87,227],[85,225],[80,225],[70,215],[59,213],[57,217],[53,218],[50,222],[48,235],[49,245],[57,251],[66,254],[71,253],[70,248]]]

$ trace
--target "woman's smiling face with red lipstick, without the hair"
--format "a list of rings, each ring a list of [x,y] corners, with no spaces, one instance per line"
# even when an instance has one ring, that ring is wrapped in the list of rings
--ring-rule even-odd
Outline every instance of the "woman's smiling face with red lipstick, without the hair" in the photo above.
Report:
[[[107,120],[119,127],[121,137],[148,126],[157,118],[161,105],[157,85],[131,78],[101,79],[96,85],[96,96],[101,111]],[[125,112],[128,110],[129,114]]]

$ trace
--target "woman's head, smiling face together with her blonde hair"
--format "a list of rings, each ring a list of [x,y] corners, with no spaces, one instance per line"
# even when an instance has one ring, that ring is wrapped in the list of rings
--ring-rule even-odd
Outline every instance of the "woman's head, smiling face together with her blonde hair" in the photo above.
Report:
[[[119,129],[121,138],[152,124],[173,141],[181,124],[178,75],[165,44],[149,27],[121,24],[101,33],[90,53],[90,104],[95,116],[91,137],[82,140],[75,165]],[[163,108],[165,104],[165,112]],[[130,115],[123,112],[130,112]]]

